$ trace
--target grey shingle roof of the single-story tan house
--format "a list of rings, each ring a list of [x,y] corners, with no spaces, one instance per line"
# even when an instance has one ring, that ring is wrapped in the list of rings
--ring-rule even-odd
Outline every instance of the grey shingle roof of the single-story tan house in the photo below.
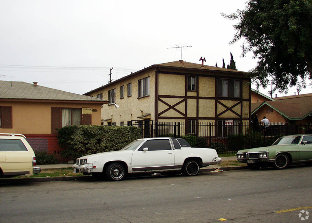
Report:
[[[65,100],[107,102],[85,95],[56,90],[22,81],[0,81],[0,99]]]

